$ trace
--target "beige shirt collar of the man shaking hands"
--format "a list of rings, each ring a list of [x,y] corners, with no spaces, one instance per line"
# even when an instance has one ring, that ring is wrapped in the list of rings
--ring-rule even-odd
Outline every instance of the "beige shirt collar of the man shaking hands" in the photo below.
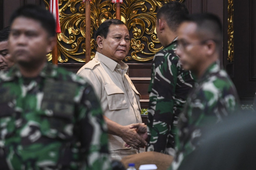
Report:
[[[129,67],[126,63],[124,63],[123,61],[121,61],[120,63],[117,63],[116,61],[112,60],[111,58],[96,52],[95,57],[100,60],[100,62],[102,62],[104,65],[106,65],[112,72],[114,72],[115,68],[118,67],[118,65],[120,65],[122,70],[127,70],[127,74],[129,71]]]

